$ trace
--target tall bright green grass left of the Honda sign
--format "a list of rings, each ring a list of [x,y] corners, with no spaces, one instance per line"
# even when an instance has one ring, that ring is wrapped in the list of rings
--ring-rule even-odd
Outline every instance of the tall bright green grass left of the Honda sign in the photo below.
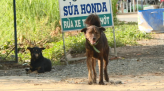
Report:
[[[0,45],[13,41],[13,0],[0,0]],[[20,36],[32,41],[50,38],[59,25],[58,0],[16,0],[18,42]],[[39,35],[39,36],[38,36]]]

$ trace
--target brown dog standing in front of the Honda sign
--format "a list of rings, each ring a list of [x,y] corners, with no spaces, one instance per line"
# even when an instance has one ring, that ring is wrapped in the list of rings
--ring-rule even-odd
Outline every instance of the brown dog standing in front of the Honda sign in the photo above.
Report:
[[[103,68],[104,77],[109,82],[107,65],[109,46],[107,38],[103,31],[105,28],[101,27],[100,19],[97,15],[91,14],[86,19],[85,23],[88,25],[87,28],[83,28],[81,32],[84,32],[86,37],[86,55],[87,55],[87,67],[88,67],[88,84],[96,83],[96,59],[99,63],[99,84],[104,85],[103,82]],[[103,64],[104,63],[104,64]],[[92,76],[93,71],[93,76]]]

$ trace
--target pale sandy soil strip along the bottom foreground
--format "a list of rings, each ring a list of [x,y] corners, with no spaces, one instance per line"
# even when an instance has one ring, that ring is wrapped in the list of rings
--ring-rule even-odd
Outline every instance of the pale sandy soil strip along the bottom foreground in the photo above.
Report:
[[[33,78],[28,76],[0,77],[0,91],[164,91],[164,75],[114,76],[111,80],[121,80],[122,84],[87,85],[66,83],[57,78]],[[76,78],[77,80],[82,78]]]

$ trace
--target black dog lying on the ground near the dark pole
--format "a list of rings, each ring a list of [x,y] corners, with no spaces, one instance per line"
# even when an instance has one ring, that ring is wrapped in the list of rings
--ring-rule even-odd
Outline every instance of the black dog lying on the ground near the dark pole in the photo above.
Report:
[[[30,69],[26,69],[27,73],[37,71],[38,73],[44,73],[46,71],[51,71],[52,64],[47,58],[42,55],[42,50],[45,48],[33,47],[27,48],[31,53]]]

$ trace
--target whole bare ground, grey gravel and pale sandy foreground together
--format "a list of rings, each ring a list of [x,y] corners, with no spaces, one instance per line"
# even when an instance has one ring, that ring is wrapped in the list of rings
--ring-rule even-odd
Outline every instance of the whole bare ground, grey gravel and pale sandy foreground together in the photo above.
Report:
[[[109,62],[106,85],[88,85],[86,61],[81,60],[42,74],[1,67],[0,91],[164,91],[164,34],[153,36],[138,41],[140,46],[117,48],[119,59]]]

